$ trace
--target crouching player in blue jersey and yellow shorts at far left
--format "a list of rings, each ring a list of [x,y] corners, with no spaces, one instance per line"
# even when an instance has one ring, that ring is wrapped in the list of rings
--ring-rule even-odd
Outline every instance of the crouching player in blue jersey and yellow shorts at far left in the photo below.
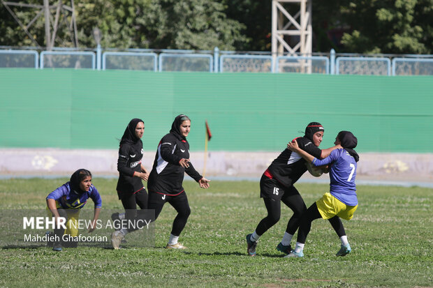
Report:
[[[80,216],[80,209],[85,206],[89,198],[95,204],[94,218],[89,227],[89,232],[92,232],[96,228],[102,199],[96,187],[91,184],[91,173],[89,170],[78,169],[72,174],[70,181],[64,183],[64,185],[61,185],[46,197],[47,209],[55,218],[56,223],[59,221],[59,218],[66,218],[66,230],[61,227],[54,229],[54,235],[57,239],[61,239],[64,234],[69,234],[72,237],[78,236],[78,225],[76,223]],[[53,245],[53,250],[61,251],[61,241],[55,241]],[[63,243],[63,245],[76,247],[77,243]]]

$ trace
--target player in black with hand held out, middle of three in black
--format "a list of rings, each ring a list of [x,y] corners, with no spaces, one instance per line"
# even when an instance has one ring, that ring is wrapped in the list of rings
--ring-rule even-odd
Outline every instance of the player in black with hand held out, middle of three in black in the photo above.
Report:
[[[170,239],[166,245],[166,248],[169,249],[185,248],[184,245],[177,242],[191,213],[186,192],[182,187],[185,172],[197,181],[201,188],[209,188],[210,181],[201,176],[189,161],[189,143],[186,141],[186,136],[190,128],[191,120],[188,116],[181,114],[175,118],[170,133],[159,142],[147,183],[148,209],[154,209],[155,220],[166,202],[177,211]]]

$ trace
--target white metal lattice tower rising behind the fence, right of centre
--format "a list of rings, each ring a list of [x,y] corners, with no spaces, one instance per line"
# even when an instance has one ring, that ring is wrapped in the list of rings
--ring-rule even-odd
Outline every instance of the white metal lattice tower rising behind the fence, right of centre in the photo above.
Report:
[[[311,56],[312,0],[272,0],[272,55]],[[299,6],[296,7],[296,6]],[[297,11],[294,15],[288,10]]]

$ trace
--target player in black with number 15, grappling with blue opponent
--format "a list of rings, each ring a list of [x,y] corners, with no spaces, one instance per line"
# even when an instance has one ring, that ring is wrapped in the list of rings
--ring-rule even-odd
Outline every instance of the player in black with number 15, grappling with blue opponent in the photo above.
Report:
[[[298,137],[295,140],[298,142],[300,149],[322,159],[328,157],[332,150],[337,149],[337,146],[324,150],[318,149],[324,131],[321,123],[311,122],[305,128],[304,137]],[[285,149],[263,173],[260,179],[260,197],[265,202],[267,216],[258,223],[256,230],[252,234],[247,235],[247,251],[249,255],[256,255],[258,238],[279,221],[281,202],[293,211],[293,215],[288,220],[286,232],[281,243],[277,245],[277,250],[284,252],[286,255],[291,252],[291,239],[300,225],[302,213],[307,210],[304,199],[302,199],[293,184],[306,171],[305,160],[298,153]]]

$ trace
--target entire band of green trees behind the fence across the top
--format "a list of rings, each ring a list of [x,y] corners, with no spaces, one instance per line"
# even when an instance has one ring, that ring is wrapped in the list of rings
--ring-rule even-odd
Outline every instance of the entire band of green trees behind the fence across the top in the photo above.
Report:
[[[38,0],[26,3],[41,5]],[[79,45],[96,46],[93,29],[97,26],[103,35],[102,47],[270,51],[271,3],[76,0]],[[12,10],[24,24],[38,12],[33,8],[12,7]],[[432,15],[433,0],[314,1],[314,51],[329,52],[334,48],[337,52],[431,54]],[[0,7],[0,19],[0,45],[36,46],[4,6]],[[54,46],[73,47],[65,24],[70,21],[70,16],[61,18]],[[29,28],[41,46],[46,45],[44,25],[42,16]]]

